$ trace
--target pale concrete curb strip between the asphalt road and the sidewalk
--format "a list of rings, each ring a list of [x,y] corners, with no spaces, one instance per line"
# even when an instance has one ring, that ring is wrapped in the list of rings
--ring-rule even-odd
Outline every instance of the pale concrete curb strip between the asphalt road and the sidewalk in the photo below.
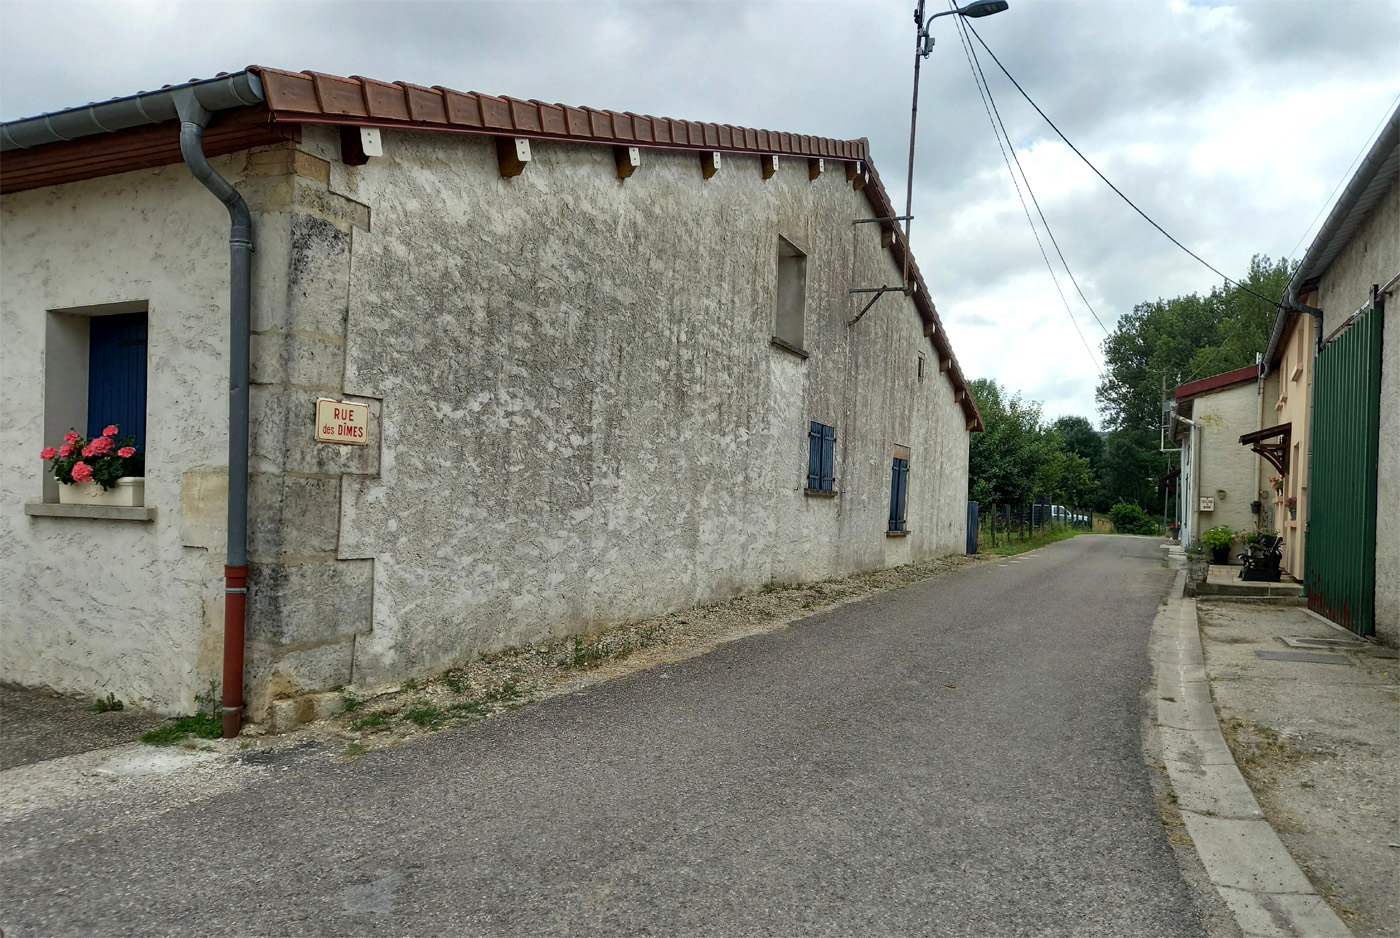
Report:
[[[1205,875],[1246,938],[1351,938],[1254,801],[1221,734],[1186,571],[1154,630],[1166,774]]]

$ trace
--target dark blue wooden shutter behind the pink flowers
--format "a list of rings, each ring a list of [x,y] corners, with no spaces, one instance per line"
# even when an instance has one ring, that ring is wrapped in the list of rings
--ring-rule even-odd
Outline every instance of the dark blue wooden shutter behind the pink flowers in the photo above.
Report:
[[[92,316],[88,333],[88,437],[115,423],[146,451],[146,314]]]

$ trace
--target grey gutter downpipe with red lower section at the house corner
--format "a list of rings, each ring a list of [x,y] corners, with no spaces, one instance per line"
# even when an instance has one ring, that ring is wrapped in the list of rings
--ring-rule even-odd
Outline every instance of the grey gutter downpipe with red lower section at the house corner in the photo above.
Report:
[[[248,203],[204,158],[213,116],[193,91],[176,94],[179,150],[190,174],[228,209],[228,546],[224,563],[224,739],[244,721],[244,626],[248,608],[248,360],[253,225]]]

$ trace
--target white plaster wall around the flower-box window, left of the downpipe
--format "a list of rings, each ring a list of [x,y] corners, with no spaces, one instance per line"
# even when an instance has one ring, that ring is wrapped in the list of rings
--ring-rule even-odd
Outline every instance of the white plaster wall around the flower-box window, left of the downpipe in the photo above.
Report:
[[[232,172],[231,158],[214,165]],[[182,165],[0,200],[0,680],[188,713],[218,675],[227,218]],[[115,302],[148,304],[146,504],[155,518],[29,517],[25,503],[45,498],[39,449],[55,442],[46,368],[63,367],[46,354],[48,311]],[[85,386],[85,372],[70,371]]]

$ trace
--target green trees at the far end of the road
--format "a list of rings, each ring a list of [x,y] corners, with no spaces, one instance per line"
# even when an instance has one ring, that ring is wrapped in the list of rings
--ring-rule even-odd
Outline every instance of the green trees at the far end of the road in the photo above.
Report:
[[[1179,384],[1254,364],[1295,266],[1254,255],[1239,286],[1144,301],[1123,315],[1102,344],[1102,431],[1084,416],[1047,420],[1021,392],[972,381],[986,431],[972,437],[967,497],[1018,504],[1044,496],[1102,512],[1124,503],[1159,515],[1166,476],[1180,465],[1159,452],[1163,386],[1170,396]]]

